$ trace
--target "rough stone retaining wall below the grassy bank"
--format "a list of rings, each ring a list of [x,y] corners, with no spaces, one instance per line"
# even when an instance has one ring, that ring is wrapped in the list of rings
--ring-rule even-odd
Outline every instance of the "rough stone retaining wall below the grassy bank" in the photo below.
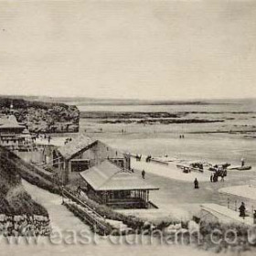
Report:
[[[0,232],[4,236],[48,236],[49,219],[47,216],[0,214]]]

